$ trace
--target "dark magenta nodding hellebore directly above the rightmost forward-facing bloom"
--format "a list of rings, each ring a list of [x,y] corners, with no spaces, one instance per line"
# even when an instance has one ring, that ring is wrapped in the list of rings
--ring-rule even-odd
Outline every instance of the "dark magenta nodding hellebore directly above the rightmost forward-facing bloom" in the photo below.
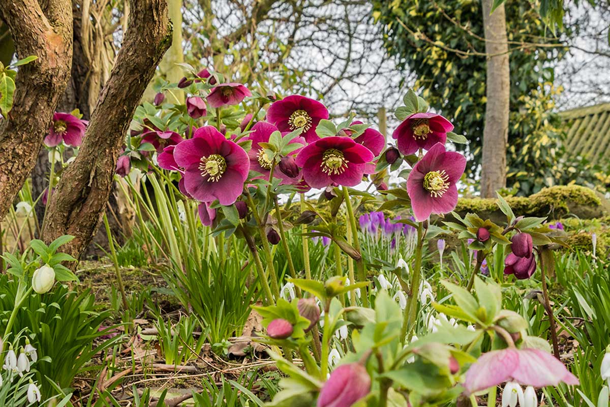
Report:
[[[392,133],[392,139],[398,140],[398,150],[405,156],[415,154],[418,149],[429,150],[436,143],[445,144],[447,132],[453,130],[453,124],[436,113],[413,113]]]

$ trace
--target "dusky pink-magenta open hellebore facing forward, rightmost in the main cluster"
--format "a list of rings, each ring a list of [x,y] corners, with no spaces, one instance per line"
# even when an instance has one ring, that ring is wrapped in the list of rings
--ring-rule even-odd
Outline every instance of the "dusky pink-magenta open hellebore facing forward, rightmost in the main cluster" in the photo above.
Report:
[[[456,182],[464,173],[466,159],[460,153],[445,151],[436,143],[415,164],[407,179],[413,214],[422,222],[430,214],[447,214],[458,204]]]

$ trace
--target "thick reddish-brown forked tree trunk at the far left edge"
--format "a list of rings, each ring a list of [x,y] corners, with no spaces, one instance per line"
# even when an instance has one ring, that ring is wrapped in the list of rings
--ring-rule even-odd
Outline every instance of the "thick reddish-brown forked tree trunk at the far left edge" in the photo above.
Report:
[[[70,0],[3,0],[18,57],[38,59],[20,67],[13,108],[0,123],[0,219],[34,168],[40,145],[61,98],[72,61]]]

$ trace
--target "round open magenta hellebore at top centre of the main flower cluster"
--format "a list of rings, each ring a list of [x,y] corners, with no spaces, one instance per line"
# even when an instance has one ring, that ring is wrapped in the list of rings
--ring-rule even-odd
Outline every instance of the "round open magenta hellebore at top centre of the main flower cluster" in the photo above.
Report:
[[[286,96],[273,102],[267,110],[267,120],[275,124],[279,131],[303,129],[301,135],[307,143],[320,138],[315,133],[315,128],[322,119],[328,119],[326,107],[317,100],[301,95]]]

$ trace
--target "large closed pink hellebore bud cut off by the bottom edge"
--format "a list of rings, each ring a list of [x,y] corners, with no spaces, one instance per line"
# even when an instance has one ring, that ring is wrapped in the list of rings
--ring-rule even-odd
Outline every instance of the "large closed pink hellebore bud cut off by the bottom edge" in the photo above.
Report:
[[[333,370],[320,391],[317,407],[350,407],[371,391],[371,377],[359,363]]]

